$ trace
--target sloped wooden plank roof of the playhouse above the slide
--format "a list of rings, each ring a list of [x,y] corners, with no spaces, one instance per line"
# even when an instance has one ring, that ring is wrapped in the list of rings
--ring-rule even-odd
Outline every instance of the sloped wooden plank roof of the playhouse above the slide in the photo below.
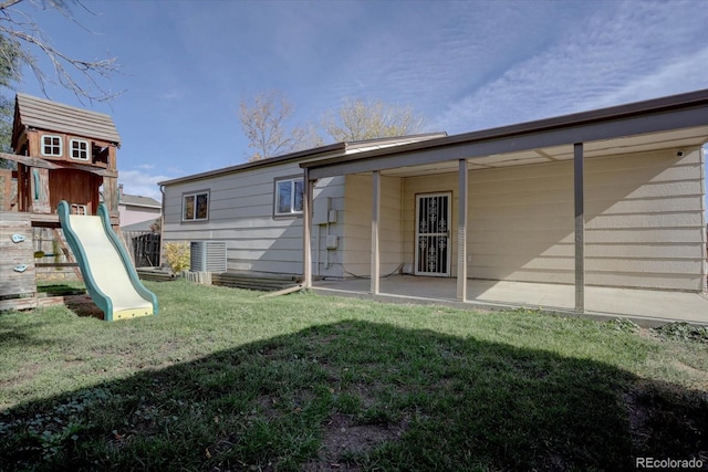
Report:
[[[121,145],[121,136],[111,116],[18,93],[13,145],[17,144],[22,127],[67,133]]]

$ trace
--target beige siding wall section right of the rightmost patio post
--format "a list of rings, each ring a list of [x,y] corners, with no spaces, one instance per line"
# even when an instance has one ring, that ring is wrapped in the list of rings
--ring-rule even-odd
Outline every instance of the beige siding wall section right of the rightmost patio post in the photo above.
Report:
[[[589,284],[702,291],[700,149],[589,159]]]

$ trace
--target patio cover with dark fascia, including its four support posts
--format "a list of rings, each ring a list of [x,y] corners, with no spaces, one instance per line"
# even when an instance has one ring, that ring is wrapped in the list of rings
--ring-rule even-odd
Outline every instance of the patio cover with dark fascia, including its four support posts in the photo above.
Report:
[[[310,231],[313,182],[351,174],[372,176],[371,294],[381,290],[379,221],[382,176],[439,172],[458,175],[457,302],[468,300],[467,212],[469,172],[506,166],[569,161],[573,167],[574,312],[585,313],[584,161],[598,156],[684,148],[708,143],[708,90],[441,137],[388,149],[301,162],[306,181],[303,198],[303,275],[312,286]],[[686,149],[686,150],[693,150]],[[704,269],[705,271],[705,269]],[[705,272],[704,272],[705,275]]]

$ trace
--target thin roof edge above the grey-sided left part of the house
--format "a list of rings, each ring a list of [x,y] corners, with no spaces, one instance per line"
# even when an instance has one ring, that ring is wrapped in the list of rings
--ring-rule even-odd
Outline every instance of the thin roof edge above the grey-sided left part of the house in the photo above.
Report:
[[[192,180],[202,180],[210,177],[222,176],[227,174],[241,172],[243,170],[257,168],[257,167],[266,167],[266,166],[274,166],[283,162],[302,160],[302,159],[321,159],[333,156],[343,156],[355,153],[364,153],[368,150],[375,149],[384,149],[392,146],[400,146],[410,143],[419,143],[428,139],[437,139],[447,136],[447,133],[426,133],[419,135],[409,135],[409,136],[400,136],[393,138],[376,138],[376,139],[366,139],[361,141],[343,141],[331,144],[327,146],[315,147],[313,149],[300,150],[296,153],[290,153],[282,156],[271,157],[268,159],[256,160],[253,162],[240,164],[237,166],[225,167],[221,169],[209,170],[206,172],[194,174],[191,176],[179,177],[176,179],[164,180],[162,182],[157,182],[160,186],[169,186],[174,183],[183,183]]]

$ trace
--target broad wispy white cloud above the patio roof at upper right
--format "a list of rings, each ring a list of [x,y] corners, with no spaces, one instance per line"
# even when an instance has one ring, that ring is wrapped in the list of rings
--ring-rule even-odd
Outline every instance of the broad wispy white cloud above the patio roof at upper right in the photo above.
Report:
[[[545,49],[448,105],[436,122],[461,133],[708,86],[708,12],[695,3],[602,3]],[[696,18],[698,17],[698,19]],[[702,21],[701,21],[702,18]]]

